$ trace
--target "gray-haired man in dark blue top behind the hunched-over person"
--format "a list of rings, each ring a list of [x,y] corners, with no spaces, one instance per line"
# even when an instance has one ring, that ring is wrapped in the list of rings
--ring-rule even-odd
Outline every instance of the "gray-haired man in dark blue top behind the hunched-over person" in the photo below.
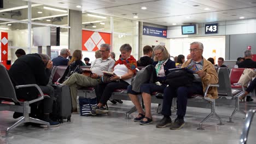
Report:
[[[67,59],[67,57],[71,57],[70,51],[68,49],[61,49],[60,55],[52,60],[53,65],[68,65],[69,60]]]

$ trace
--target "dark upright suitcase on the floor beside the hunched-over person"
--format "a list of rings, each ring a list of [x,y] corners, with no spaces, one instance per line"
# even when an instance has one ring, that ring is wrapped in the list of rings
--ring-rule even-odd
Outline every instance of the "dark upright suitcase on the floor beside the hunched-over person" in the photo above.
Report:
[[[63,122],[63,119],[67,119],[68,122],[71,122],[71,94],[69,86],[65,85],[55,85],[55,98],[53,115],[56,115],[59,122]]]

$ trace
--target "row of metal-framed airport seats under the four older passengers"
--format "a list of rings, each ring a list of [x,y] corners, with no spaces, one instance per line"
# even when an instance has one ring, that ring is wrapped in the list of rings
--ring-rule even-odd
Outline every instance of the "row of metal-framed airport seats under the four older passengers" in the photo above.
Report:
[[[81,68],[88,69],[90,67],[83,66]],[[57,81],[57,79],[59,79],[60,76],[63,75],[66,69],[66,66],[58,66],[55,69],[56,69],[55,73],[53,74],[53,82]],[[239,84],[237,83],[243,70],[244,69],[232,69],[230,73],[229,72],[230,70],[226,68],[217,69],[219,83],[218,85],[208,85],[208,87],[206,87],[206,93],[209,87],[218,87],[218,93],[219,93],[218,99],[207,98],[206,93],[204,95],[191,95],[191,97],[188,99],[188,106],[211,109],[211,113],[200,122],[198,129],[203,129],[202,123],[207,121],[207,119],[211,118],[212,116],[216,116],[219,119],[220,124],[222,124],[222,119],[216,113],[216,105],[234,105],[235,106],[235,110],[232,112],[231,116],[229,117],[229,122],[232,122],[232,117],[235,115],[235,113],[241,112],[245,114],[244,111],[241,111],[239,109],[239,97],[241,97],[244,94],[245,90],[243,89],[243,87],[239,86]],[[86,98],[96,97],[94,92],[94,87],[80,88],[78,90],[78,96],[86,97]],[[143,105],[143,99],[141,95],[138,95],[138,98],[141,104]],[[152,93],[152,103],[159,104],[158,112],[160,112],[160,109],[161,109],[162,98],[163,98],[162,93],[160,92]],[[112,99],[130,100],[126,89],[116,89],[115,92],[112,93]],[[175,102],[176,100],[173,100],[173,103]],[[129,119],[131,113],[135,111],[136,111],[136,107],[133,106],[130,110],[125,112],[125,118]]]

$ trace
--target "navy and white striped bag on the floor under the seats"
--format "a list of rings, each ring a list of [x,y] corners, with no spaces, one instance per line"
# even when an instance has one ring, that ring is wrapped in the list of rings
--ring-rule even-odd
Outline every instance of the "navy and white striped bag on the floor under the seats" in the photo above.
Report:
[[[91,116],[90,111],[97,106],[96,98],[79,97],[80,116]]]

